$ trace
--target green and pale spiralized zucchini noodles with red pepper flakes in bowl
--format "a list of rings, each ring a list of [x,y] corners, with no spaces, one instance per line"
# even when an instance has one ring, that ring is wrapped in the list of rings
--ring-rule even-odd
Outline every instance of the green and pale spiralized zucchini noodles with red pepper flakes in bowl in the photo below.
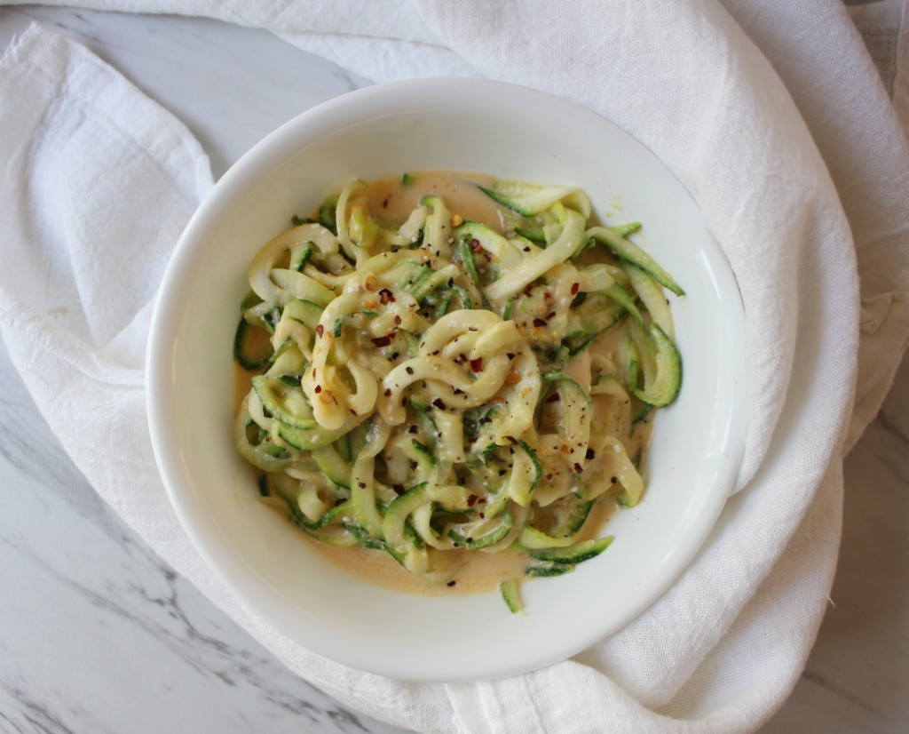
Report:
[[[640,500],[681,384],[664,288],[683,291],[639,225],[592,222],[577,188],[481,181],[499,226],[435,194],[386,221],[362,181],[295,218],[252,260],[235,342],[265,501],[434,581],[465,553],[554,576],[601,552],[594,507]]]

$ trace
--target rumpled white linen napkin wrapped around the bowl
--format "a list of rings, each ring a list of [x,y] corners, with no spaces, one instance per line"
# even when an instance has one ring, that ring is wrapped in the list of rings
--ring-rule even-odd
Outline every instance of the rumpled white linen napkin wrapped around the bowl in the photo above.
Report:
[[[380,80],[487,75],[611,117],[702,207],[742,289],[751,366],[741,491],[691,568],[628,627],[572,660],[480,683],[405,684],[321,659],[205,567],[149,446],[147,317],[211,186],[205,154],[113,69],[32,28],[0,62],[0,328],[99,494],[291,669],[380,719],[440,732],[734,732],[769,717],[823,616],[844,442],[874,417],[909,336],[909,154],[837,0],[85,5],[210,15]],[[123,462],[99,457],[99,443]]]

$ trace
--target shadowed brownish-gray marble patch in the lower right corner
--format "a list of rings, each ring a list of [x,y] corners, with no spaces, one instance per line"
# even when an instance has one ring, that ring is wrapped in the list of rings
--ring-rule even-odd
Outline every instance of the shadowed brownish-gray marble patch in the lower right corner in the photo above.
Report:
[[[909,359],[846,458],[831,606],[802,679],[767,732],[909,729]]]

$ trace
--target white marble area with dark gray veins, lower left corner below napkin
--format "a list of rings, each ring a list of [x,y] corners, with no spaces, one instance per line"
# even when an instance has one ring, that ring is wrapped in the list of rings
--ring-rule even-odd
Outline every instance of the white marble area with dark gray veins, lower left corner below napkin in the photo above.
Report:
[[[298,678],[125,528],[0,353],[0,730],[398,731]]]

